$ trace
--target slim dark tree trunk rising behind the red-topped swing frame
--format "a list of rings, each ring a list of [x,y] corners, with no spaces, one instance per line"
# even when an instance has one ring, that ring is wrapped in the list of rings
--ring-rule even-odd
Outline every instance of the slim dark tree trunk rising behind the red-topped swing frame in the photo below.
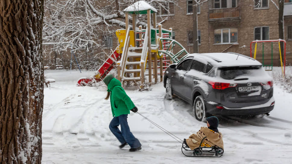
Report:
[[[279,38],[284,39],[284,0],[279,0],[279,19],[278,19],[278,26],[279,26]],[[280,42],[281,46],[281,56],[282,60],[284,61],[284,43]]]

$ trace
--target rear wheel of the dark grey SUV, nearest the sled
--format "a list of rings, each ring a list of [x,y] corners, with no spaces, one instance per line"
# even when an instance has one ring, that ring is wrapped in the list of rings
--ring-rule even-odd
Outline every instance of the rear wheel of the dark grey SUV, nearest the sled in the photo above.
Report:
[[[206,113],[205,113],[205,101],[203,99],[203,96],[196,97],[194,101],[194,113],[197,120],[199,121],[205,120]]]

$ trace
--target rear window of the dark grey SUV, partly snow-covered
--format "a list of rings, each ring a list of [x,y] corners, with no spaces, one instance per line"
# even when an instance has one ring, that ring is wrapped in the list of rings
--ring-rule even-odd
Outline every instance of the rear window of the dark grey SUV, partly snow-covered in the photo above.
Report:
[[[248,67],[224,67],[219,68],[220,77],[226,80],[232,80],[237,77],[243,76],[256,76],[262,72],[261,66],[248,66]]]

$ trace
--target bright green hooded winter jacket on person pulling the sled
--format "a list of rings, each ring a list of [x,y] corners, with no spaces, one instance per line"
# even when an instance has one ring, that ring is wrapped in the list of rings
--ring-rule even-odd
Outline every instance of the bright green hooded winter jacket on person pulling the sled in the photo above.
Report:
[[[107,91],[110,92],[110,106],[112,108],[113,116],[130,114],[130,110],[135,107],[130,97],[121,87],[122,84],[116,78],[110,80],[107,86]]]

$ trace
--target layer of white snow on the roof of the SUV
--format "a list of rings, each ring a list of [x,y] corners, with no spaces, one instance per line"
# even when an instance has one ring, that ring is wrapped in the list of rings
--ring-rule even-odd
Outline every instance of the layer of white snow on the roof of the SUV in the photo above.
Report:
[[[262,65],[249,56],[234,53],[193,53],[187,57],[203,59],[215,67]]]

